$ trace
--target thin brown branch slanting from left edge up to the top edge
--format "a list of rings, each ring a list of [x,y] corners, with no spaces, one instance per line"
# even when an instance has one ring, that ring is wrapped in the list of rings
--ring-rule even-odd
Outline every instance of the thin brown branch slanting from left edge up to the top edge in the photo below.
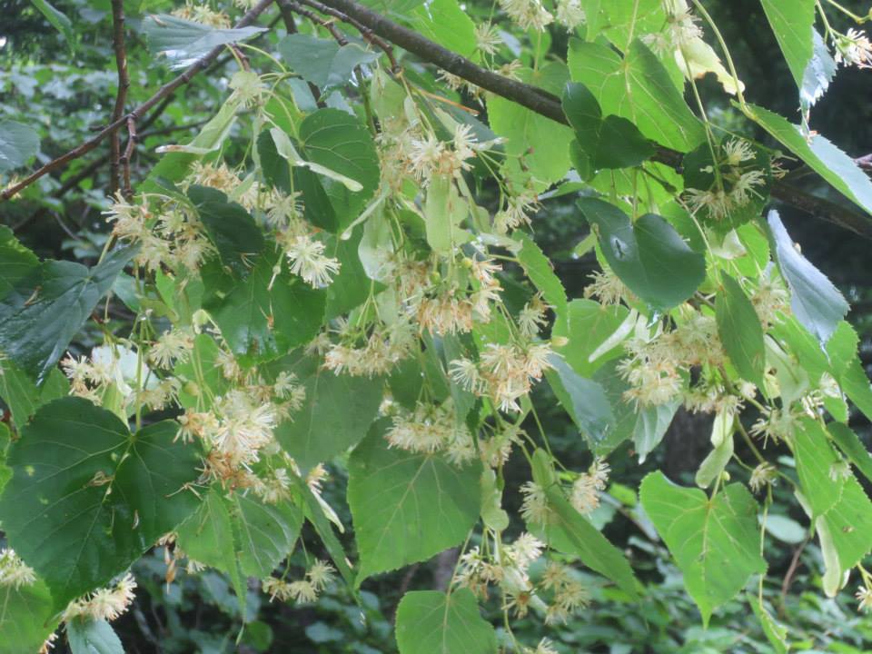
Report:
[[[236,25],[233,26],[235,28],[239,28],[245,27],[246,25],[251,25],[259,15],[263,14],[263,12],[266,11],[266,9],[269,8],[270,5],[272,5],[273,1],[274,0],[261,0],[257,5],[254,5],[254,7],[247,14],[243,15],[243,17]],[[0,200],[8,200],[9,198],[13,197],[15,193],[18,193],[22,189],[34,183],[45,174],[51,173],[57,168],[63,166],[65,163],[71,162],[74,159],[78,159],[84,154],[88,154],[89,152],[94,150],[97,145],[104,142],[107,136],[114,134],[118,129],[121,129],[124,126],[127,126],[129,124],[129,118],[133,118],[135,121],[137,118],[143,116],[145,112],[147,112],[149,109],[154,107],[154,105],[159,104],[161,101],[163,101],[166,96],[173,94],[173,92],[177,88],[183,86],[184,84],[188,84],[193,79],[193,76],[195,74],[200,73],[209,64],[212,64],[213,61],[218,58],[218,55],[223,52],[223,49],[223,45],[218,45],[214,47],[213,50],[211,50],[208,54],[203,55],[203,57],[188,66],[183,74],[180,74],[171,82],[163,84],[163,86],[161,86],[161,88],[158,89],[154,95],[152,95],[143,104],[135,107],[134,110],[131,111],[129,114],[123,115],[117,120],[114,120],[111,124],[106,125],[93,138],[85,141],[83,144],[75,147],[68,153],[62,154],[56,159],[50,161],[49,163],[46,163],[42,168],[39,168],[34,173],[31,173],[21,182],[13,184],[3,193],[0,193]]]

